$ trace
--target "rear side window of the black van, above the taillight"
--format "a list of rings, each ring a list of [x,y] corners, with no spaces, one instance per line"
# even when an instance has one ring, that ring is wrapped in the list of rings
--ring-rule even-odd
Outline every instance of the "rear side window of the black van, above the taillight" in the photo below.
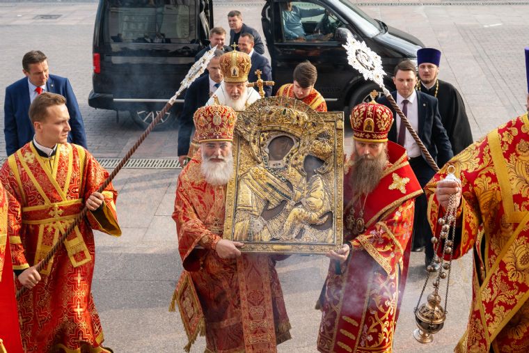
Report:
[[[109,0],[109,42],[184,43],[196,37],[194,0]]]

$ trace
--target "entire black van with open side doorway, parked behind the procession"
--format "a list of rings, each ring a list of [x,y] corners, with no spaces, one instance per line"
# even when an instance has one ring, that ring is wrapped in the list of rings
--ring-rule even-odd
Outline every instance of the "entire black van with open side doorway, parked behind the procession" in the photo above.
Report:
[[[329,110],[347,113],[377,88],[348,65],[340,42],[345,31],[379,54],[388,74],[402,59],[415,60],[417,49],[423,47],[417,38],[372,19],[349,0],[262,3],[274,90],[292,81],[298,63],[310,60],[318,69],[316,89],[324,95]],[[90,107],[129,111],[136,123],[148,125],[180,86],[194,56],[209,44],[212,6],[212,0],[100,0]],[[294,7],[303,15],[299,21],[303,38],[292,38],[286,25],[288,17],[293,18],[288,8]],[[386,86],[393,88],[390,76],[386,79]],[[182,103],[182,98],[177,102]],[[171,125],[178,109],[177,104],[160,125]]]

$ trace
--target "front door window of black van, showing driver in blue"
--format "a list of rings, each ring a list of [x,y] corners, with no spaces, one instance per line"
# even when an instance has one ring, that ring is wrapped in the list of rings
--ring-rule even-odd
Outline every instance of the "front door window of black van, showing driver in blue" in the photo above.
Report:
[[[342,25],[326,8],[310,1],[281,3],[283,33],[287,42],[327,42]]]

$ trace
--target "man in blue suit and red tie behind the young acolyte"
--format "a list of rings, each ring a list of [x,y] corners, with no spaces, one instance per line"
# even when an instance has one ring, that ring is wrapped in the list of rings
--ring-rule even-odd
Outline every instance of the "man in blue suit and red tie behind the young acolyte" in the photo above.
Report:
[[[26,75],[6,88],[3,104],[3,134],[6,137],[6,152],[12,155],[33,139],[35,130],[29,120],[29,105],[42,92],[63,95],[70,113],[68,142],[86,148],[83,118],[77,105],[72,85],[65,77],[49,74],[48,61],[39,50],[28,52],[22,58],[22,72]]]

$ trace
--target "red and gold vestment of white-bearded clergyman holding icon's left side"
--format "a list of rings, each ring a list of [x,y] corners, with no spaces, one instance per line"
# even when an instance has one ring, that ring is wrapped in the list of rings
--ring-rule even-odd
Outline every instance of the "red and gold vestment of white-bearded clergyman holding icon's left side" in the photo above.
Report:
[[[276,352],[276,345],[290,339],[290,322],[275,261],[258,254],[217,256],[226,186],[208,184],[200,165],[198,150],[178,177],[173,213],[184,272],[172,306],[178,303],[186,349],[205,330],[206,352]]]

